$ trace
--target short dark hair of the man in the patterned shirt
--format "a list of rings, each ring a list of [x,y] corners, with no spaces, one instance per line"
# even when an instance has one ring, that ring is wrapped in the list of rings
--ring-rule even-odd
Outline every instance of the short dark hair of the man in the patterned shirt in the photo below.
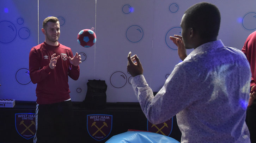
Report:
[[[185,11],[185,28],[193,28],[202,39],[217,38],[220,29],[220,11],[208,2],[200,2]]]

